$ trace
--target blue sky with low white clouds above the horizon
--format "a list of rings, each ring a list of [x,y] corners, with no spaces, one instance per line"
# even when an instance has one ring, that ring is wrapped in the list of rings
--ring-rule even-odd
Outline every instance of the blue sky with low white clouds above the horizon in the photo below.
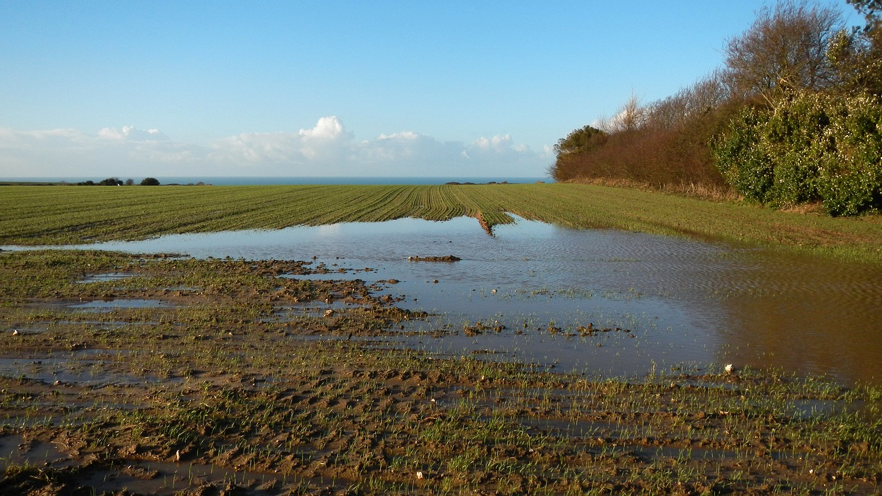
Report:
[[[8,0],[0,177],[541,177],[764,4]]]

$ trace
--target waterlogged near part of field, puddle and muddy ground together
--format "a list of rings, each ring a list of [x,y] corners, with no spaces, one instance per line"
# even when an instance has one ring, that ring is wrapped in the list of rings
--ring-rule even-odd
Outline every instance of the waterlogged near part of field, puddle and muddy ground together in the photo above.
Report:
[[[522,219],[89,248],[0,252],[0,494],[879,493],[870,270]]]

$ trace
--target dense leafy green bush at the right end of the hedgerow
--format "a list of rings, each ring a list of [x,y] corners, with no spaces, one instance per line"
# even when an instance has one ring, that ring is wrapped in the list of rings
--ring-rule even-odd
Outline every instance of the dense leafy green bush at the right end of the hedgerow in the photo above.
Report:
[[[882,209],[882,106],[871,98],[803,93],[746,108],[711,148],[746,199],[820,201],[831,215]]]

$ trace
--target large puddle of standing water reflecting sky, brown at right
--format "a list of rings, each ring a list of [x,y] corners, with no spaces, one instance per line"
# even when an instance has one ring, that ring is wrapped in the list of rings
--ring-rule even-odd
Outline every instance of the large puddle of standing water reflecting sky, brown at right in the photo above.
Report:
[[[327,278],[395,279],[384,293],[433,314],[406,329],[426,333],[400,344],[432,352],[589,374],[733,363],[882,383],[878,268],[524,219],[494,232],[489,237],[471,218],[399,219],[65,248],[315,257],[348,270]],[[460,261],[408,260],[443,255]],[[589,324],[596,331],[586,332]]]

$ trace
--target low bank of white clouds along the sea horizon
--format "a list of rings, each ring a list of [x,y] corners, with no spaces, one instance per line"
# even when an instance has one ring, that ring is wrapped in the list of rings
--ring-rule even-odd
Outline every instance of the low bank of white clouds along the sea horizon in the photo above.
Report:
[[[442,142],[418,132],[355,139],[337,116],[298,132],[243,132],[207,145],[158,129],[0,128],[0,177],[540,177],[554,155],[505,135]],[[208,171],[208,172],[206,172]]]

